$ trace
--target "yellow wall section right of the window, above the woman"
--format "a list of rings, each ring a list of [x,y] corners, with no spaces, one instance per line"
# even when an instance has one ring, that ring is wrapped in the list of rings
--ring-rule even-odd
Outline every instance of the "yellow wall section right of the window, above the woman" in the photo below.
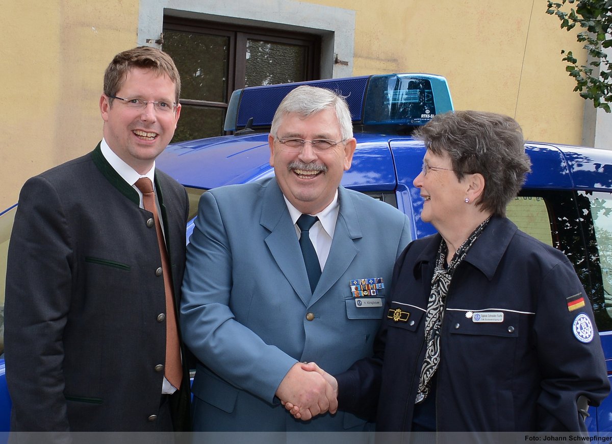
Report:
[[[585,102],[561,50],[584,51],[546,0],[310,2],[356,10],[354,75],[444,75],[455,109],[504,113],[529,140],[580,145]]]

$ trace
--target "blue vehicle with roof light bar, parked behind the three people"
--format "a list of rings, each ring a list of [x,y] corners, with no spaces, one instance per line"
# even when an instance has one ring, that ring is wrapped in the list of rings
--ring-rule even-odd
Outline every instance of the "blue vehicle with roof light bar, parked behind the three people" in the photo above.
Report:
[[[214,187],[274,175],[267,136],[274,112],[287,92],[308,84],[346,97],[357,149],[342,184],[383,200],[407,214],[413,239],[435,233],[420,220],[423,200],[412,180],[419,175],[425,146],[415,127],[453,110],[446,79],[428,74],[390,74],[259,86],[234,91],[228,105],[228,134],[168,146],[157,167],[181,182],[190,197],[193,230],[198,200]],[[180,123],[179,123],[180,124]],[[518,227],[570,258],[591,299],[612,372],[612,151],[550,143],[526,143],[532,172],[507,216]],[[15,207],[0,213],[0,296]],[[376,217],[373,215],[372,217]],[[517,279],[520,279],[517,276]],[[9,364],[10,365],[10,364]],[[10,399],[0,361],[0,431],[9,427]],[[590,432],[612,431],[612,397],[589,408]]]

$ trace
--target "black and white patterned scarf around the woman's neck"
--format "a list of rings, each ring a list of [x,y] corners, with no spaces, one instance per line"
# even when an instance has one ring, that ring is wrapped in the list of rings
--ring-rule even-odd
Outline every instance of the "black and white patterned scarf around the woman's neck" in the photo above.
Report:
[[[422,402],[430,391],[431,377],[435,374],[438,369],[438,363],[440,362],[440,331],[442,327],[442,319],[444,318],[444,304],[446,303],[446,296],[449,292],[450,280],[455,273],[457,266],[463,261],[468,250],[474,244],[474,241],[480,236],[480,233],[487,227],[487,224],[491,217],[487,217],[476,230],[472,231],[472,234],[468,236],[463,244],[459,247],[449,266],[446,264],[446,256],[449,251],[449,247],[446,245],[444,239],[440,242],[438,247],[438,258],[436,259],[436,268],[433,271],[433,278],[431,279],[431,293],[427,303],[427,316],[425,317],[425,339],[427,340],[427,350],[425,351],[425,360],[423,361],[423,367],[420,373],[419,390],[415,404]]]

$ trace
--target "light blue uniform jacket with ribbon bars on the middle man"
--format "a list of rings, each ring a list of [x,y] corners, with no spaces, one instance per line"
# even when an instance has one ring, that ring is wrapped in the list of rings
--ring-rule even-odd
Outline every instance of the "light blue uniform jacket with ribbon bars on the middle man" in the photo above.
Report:
[[[337,374],[371,356],[395,259],[410,241],[405,215],[387,203],[343,187],[338,200],[329,257],[311,294],[274,178],[201,197],[181,303],[184,341],[199,361],[195,431],[367,429],[344,412],[294,420],[275,397],[297,361]],[[378,277],[382,305],[358,307],[365,299],[354,297],[351,280]]]

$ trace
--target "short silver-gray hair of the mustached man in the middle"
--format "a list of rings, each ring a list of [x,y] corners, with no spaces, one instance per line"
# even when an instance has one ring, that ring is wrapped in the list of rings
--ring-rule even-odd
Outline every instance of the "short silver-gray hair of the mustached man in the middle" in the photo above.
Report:
[[[280,102],[272,119],[270,134],[274,138],[277,137],[278,127],[288,113],[297,113],[300,116],[307,117],[326,108],[334,108],[336,111],[342,139],[347,140],[353,137],[351,111],[348,109],[345,98],[330,89],[316,88],[315,86],[308,85],[292,89],[285,96],[285,99]]]

